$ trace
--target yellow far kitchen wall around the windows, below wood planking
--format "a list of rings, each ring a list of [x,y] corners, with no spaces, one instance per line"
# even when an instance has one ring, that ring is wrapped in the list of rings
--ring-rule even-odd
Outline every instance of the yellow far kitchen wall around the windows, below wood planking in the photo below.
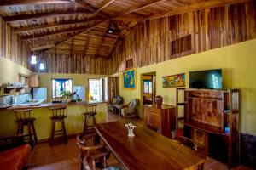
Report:
[[[73,86],[85,86],[85,96],[88,98],[88,79],[102,78],[104,75],[90,75],[90,74],[62,74],[62,73],[38,73],[40,79],[40,87],[47,88],[48,102],[52,100],[51,79],[53,78],[71,78],[73,79]]]

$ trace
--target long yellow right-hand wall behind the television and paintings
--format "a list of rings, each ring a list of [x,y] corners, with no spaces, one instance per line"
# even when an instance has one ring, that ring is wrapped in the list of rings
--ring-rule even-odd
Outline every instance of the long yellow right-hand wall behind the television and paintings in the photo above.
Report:
[[[156,71],[156,94],[164,98],[164,104],[175,105],[176,89],[162,88],[161,77],[184,72],[189,88],[189,71],[217,68],[223,69],[223,88],[241,89],[241,132],[256,135],[256,39],[138,68],[137,88],[125,90],[121,77],[120,95],[125,103],[142,99],[141,74]]]

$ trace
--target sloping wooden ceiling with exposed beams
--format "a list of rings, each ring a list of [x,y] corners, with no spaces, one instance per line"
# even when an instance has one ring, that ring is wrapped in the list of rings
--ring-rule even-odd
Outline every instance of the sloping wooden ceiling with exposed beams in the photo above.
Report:
[[[1,0],[0,14],[33,50],[108,58],[143,20],[245,0]],[[118,34],[109,34],[113,22]],[[33,35],[34,33],[34,35]]]

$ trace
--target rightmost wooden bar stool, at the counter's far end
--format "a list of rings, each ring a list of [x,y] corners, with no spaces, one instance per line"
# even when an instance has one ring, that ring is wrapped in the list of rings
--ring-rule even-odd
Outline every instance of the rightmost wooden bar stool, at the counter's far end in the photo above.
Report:
[[[96,124],[96,106],[97,105],[85,105],[84,109],[85,112],[83,113],[85,117],[84,121],[84,136],[86,136],[88,133],[94,133],[93,126]],[[92,119],[92,125],[89,125],[89,120]]]

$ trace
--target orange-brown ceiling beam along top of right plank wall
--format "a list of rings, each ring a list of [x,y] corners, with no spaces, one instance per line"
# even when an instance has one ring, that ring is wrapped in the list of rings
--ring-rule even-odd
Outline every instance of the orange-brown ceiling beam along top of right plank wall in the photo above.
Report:
[[[192,3],[186,7],[177,8],[175,10],[164,12],[164,13],[149,15],[147,17],[142,17],[139,20],[153,20],[153,19],[176,15],[176,14],[189,13],[189,12],[193,12],[193,11],[201,10],[205,8],[215,8],[215,7],[224,6],[231,3],[242,3],[247,1],[249,0],[223,0],[223,1],[215,0],[215,1],[205,1],[203,3]]]

